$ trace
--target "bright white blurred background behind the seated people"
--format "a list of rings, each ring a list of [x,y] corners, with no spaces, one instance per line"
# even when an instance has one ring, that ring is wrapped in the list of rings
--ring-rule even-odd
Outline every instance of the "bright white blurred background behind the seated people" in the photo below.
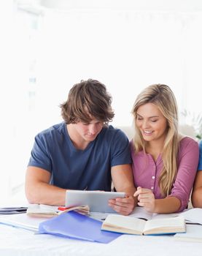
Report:
[[[201,138],[201,27],[200,0],[1,0],[0,203],[24,196],[34,136],[62,121],[80,80],[106,85],[115,127],[132,125],[142,89],[167,84]]]

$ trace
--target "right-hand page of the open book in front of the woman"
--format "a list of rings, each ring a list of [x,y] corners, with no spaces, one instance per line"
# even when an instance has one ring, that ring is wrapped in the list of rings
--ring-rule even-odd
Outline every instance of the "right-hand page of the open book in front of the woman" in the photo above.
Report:
[[[184,232],[184,217],[174,217],[168,219],[151,219],[147,221],[145,224],[144,233],[148,233],[147,231],[153,231],[155,233]]]

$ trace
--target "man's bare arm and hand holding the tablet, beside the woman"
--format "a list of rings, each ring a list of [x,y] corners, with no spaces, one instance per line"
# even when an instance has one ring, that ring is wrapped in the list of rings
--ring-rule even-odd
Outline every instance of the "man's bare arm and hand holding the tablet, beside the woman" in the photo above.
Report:
[[[125,192],[127,197],[109,200],[111,206],[119,214],[131,214],[137,204],[136,198],[133,197],[136,188],[133,183],[133,173],[131,165],[116,165],[112,167],[112,181],[117,192]]]

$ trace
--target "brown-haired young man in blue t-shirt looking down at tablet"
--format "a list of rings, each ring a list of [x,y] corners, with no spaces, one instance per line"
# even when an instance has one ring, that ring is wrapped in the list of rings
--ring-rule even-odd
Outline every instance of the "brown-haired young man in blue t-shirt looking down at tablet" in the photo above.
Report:
[[[36,135],[26,173],[30,203],[62,206],[66,189],[126,192],[109,200],[120,214],[133,211],[135,201],[128,138],[108,126],[112,97],[98,80],[82,80],[61,105],[64,122]]]

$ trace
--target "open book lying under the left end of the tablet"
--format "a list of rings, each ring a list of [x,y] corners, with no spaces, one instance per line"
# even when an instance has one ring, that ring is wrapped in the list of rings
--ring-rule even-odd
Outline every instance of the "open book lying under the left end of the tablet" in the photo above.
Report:
[[[67,211],[77,211],[79,214],[88,215],[88,206],[62,207],[62,206],[47,206],[43,204],[30,204],[27,209],[27,215],[30,217],[51,218]]]

